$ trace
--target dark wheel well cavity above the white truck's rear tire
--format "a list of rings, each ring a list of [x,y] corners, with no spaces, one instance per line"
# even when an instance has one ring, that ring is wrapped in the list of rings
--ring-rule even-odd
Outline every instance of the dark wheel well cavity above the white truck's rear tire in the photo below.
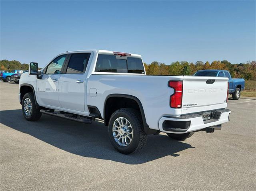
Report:
[[[104,124],[108,126],[109,119],[114,111],[121,108],[133,108],[140,112],[140,107],[138,103],[132,98],[125,97],[110,97],[105,102],[104,107]]]

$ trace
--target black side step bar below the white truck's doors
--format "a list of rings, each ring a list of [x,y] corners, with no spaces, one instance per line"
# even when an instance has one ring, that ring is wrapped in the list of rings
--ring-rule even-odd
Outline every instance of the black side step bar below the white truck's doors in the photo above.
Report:
[[[41,109],[40,110],[41,113],[43,114],[47,114],[47,115],[52,115],[52,116],[56,116],[56,117],[61,117],[64,119],[68,119],[68,120],[72,120],[72,121],[77,121],[77,122],[81,122],[81,123],[86,123],[86,124],[91,124],[92,120],[86,117],[81,117],[79,115],[76,114],[62,114],[60,112],[56,112],[52,110],[45,110],[45,109]]]

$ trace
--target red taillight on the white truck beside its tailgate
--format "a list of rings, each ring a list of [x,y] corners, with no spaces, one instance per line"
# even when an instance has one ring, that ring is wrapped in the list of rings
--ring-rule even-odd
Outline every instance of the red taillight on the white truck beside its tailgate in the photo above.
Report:
[[[174,93],[170,96],[170,107],[181,108],[182,81],[169,81],[168,86],[174,89]]]

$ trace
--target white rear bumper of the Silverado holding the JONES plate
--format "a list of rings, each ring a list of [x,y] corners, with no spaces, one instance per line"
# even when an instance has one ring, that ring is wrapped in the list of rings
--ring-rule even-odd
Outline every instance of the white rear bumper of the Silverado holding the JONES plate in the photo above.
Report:
[[[190,114],[173,118],[164,116],[159,121],[159,130],[166,133],[186,133],[217,126],[229,121],[230,110],[216,110],[212,119],[204,121],[200,114]]]

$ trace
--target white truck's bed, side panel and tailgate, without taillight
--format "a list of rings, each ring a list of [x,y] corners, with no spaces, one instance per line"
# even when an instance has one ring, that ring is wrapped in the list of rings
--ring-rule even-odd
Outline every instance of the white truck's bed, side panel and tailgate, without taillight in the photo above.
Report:
[[[208,79],[214,83],[207,84]],[[181,108],[170,107],[174,89],[169,81],[183,81]],[[132,95],[143,106],[147,124],[158,129],[162,116],[179,117],[182,114],[226,108],[228,79],[197,76],[151,76],[151,75],[90,75],[87,84],[87,104],[97,106],[104,117],[104,101],[114,94]],[[90,95],[92,89],[97,94]]]

